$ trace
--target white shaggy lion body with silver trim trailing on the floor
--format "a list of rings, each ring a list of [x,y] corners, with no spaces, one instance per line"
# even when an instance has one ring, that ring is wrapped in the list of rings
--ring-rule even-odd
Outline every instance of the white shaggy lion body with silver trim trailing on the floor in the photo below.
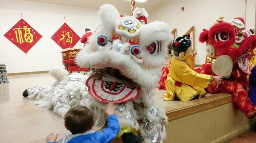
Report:
[[[63,76],[51,87],[36,86],[27,89],[27,93],[29,98],[35,99],[36,105],[53,109],[53,112],[64,118],[70,107],[81,104],[89,98],[90,95],[84,85],[88,76],[87,73],[68,74],[60,67],[57,71],[63,72]]]

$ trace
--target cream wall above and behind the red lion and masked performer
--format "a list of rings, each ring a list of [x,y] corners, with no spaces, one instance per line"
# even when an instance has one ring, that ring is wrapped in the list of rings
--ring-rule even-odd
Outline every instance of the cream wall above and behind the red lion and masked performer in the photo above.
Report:
[[[181,11],[181,7],[185,7],[185,10]],[[250,12],[255,14],[255,8]],[[150,21],[167,22],[170,31],[177,28],[178,36],[195,26],[195,47],[198,53],[195,64],[203,64],[206,55],[205,44],[198,42],[199,34],[203,28],[209,29],[220,16],[225,17],[226,21],[234,17],[245,17],[245,0],[165,0],[149,14]]]

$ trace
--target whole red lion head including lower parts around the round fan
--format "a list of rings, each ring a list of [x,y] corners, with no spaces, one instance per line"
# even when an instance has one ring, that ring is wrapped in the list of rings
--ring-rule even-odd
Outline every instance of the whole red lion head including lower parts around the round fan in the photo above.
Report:
[[[223,17],[222,17],[223,18]],[[230,22],[218,19],[209,30],[204,29],[199,36],[200,42],[207,44],[206,64],[203,64],[200,73],[212,73],[212,62],[221,55],[230,56],[233,59],[233,72],[230,80],[244,82],[242,76],[250,73],[249,59],[256,48],[256,36],[254,30],[245,30],[244,19],[236,17]]]

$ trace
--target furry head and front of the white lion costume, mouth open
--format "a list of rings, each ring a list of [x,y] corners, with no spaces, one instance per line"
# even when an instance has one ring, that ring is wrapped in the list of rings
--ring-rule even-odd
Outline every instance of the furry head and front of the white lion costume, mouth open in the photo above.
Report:
[[[95,113],[95,129],[107,121],[102,111],[106,103],[115,103],[121,126],[118,137],[122,136],[124,143],[139,143],[142,139],[145,143],[163,143],[166,137],[163,124],[168,118],[151,97],[161,76],[171,35],[166,23],[147,23],[145,17],[145,9],[136,8],[133,16],[120,17],[114,6],[102,5],[101,25],[76,57],[80,67],[93,68],[92,73],[87,73],[87,88],[82,88],[83,93],[77,92],[82,94],[76,103]],[[139,132],[140,137],[134,132]]]

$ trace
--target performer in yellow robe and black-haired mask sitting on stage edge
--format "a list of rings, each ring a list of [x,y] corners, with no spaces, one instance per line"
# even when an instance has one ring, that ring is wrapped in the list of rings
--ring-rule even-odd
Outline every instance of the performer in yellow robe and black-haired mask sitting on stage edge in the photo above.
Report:
[[[178,98],[182,102],[194,98],[202,98],[206,94],[207,88],[212,79],[220,84],[221,76],[210,76],[196,73],[188,62],[192,54],[191,40],[189,35],[183,35],[172,40],[172,60],[169,67],[169,74],[166,80],[166,94],[164,100],[175,100]]]

